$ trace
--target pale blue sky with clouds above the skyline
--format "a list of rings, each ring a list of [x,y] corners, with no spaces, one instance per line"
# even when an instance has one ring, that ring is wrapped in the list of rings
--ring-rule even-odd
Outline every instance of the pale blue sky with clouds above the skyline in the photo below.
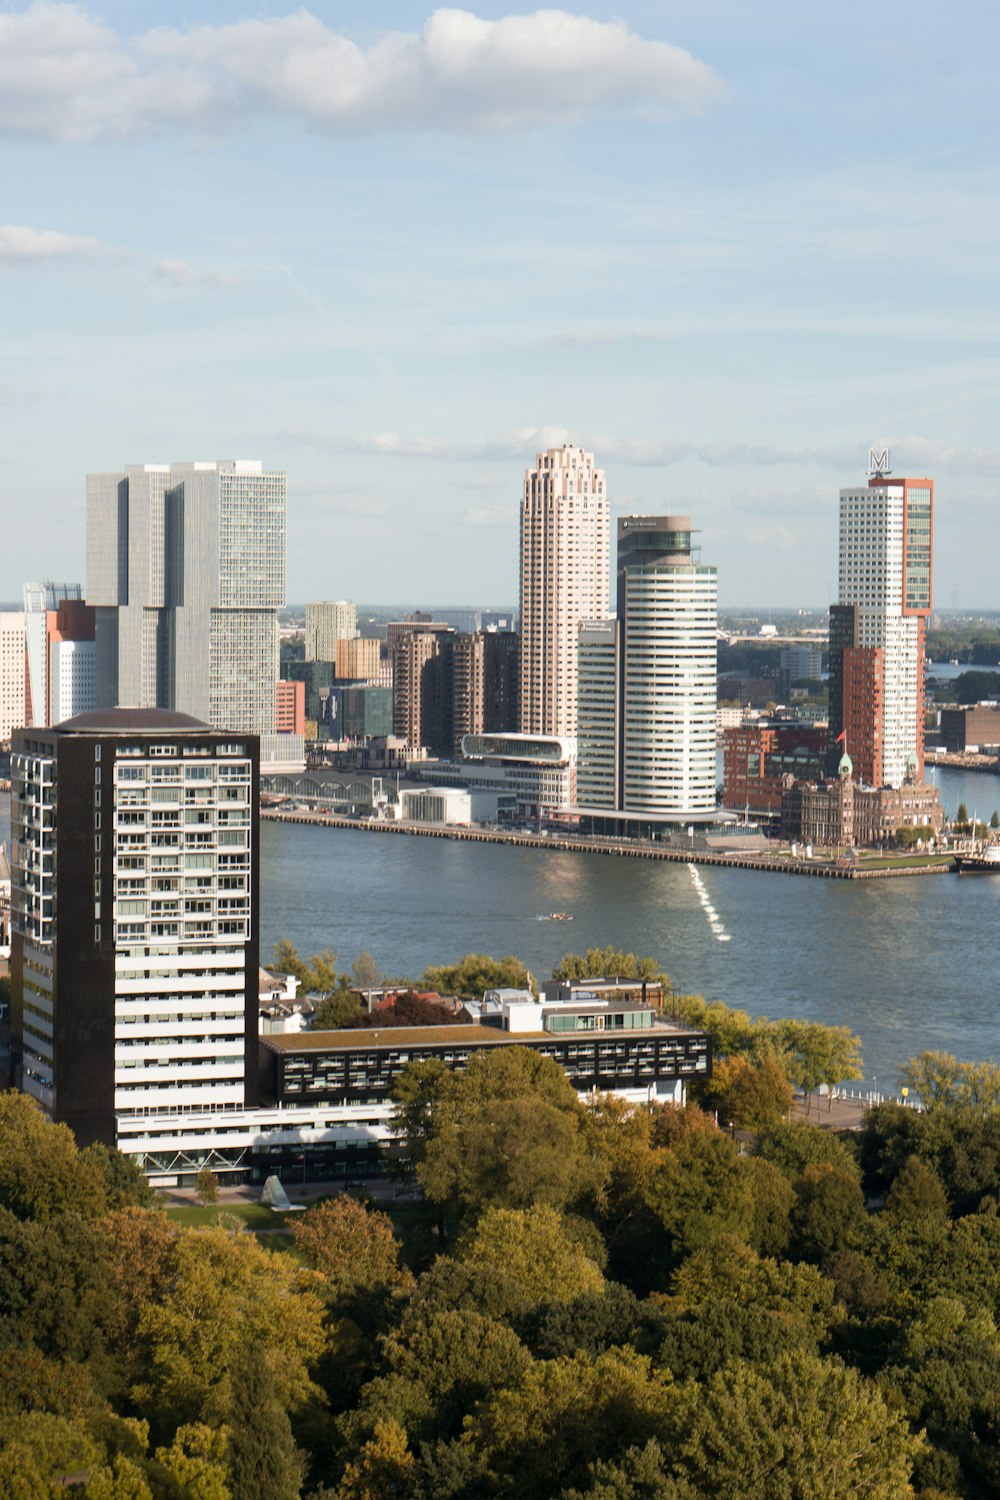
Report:
[[[868,448],[1000,608],[1000,12],[0,0],[0,597],[84,476],[288,472],[288,598],[501,604],[535,453],[823,608]]]

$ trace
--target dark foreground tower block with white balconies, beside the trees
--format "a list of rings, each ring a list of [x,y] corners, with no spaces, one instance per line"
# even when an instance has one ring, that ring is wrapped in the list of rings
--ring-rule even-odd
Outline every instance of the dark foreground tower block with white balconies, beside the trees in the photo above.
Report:
[[[81,1144],[256,1104],[258,750],[165,710],[21,729],[12,1053]]]

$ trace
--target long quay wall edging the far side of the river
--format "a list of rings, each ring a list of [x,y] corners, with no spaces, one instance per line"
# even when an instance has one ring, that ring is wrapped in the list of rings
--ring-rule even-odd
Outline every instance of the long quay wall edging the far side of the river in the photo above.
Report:
[[[805,874],[822,880],[885,880],[912,874],[951,874],[951,855],[873,855],[865,858],[814,856],[790,854],[747,854],[741,850],[678,849],[630,838],[568,837],[565,834],[528,834],[501,828],[457,828],[439,824],[372,822],[364,818],[337,818],[331,813],[286,813],[261,808],[261,819],[280,824],[312,824],[324,828],[351,828],[358,832],[409,834],[418,838],[450,838],[457,843],[499,843],[522,849],[555,849],[561,854],[600,854],[616,860],[660,860],[670,864],[708,864],[726,870],[762,870],[771,874]]]

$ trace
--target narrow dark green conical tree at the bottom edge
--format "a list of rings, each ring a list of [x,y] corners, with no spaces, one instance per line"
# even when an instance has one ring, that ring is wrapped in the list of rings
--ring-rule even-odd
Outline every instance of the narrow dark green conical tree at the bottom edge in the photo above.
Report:
[[[229,1492],[232,1500],[298,1500],[301,1478],[301,1455],[270,1360],[252,1344],[232,1388]]]

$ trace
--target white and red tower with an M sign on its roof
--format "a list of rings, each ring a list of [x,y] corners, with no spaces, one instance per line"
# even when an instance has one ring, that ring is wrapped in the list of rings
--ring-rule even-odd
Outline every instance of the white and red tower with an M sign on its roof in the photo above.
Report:
[[[934,480],[892,478],[871,453],[868,483],[840,492],[840,597],[831,609],[831,753],[855,777],[924,778],[924,630],[931,612]]]

